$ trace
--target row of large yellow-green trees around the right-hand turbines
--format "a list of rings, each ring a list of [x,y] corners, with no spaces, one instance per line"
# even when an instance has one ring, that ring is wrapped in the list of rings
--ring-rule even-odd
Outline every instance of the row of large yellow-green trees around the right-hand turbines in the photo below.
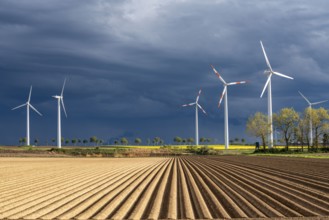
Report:
[[[309,140],[310,121],[314,134],[313,146]],[[318,148],[320,143],[323,146],[329,143],[329,114],[325,108],[306,108],[302,113],[295,111],[294,108],[283,108],[273,114],[273,127],[274,131],[281,134],[280,142],[284,143],[287,150],[291,144],[300,145],[303,150],[304,146],[310,149]],[[247,121],[247,133],[260,138],[264,149],[267,145],[269,128],[267,115],[261,112],[256,112]]]

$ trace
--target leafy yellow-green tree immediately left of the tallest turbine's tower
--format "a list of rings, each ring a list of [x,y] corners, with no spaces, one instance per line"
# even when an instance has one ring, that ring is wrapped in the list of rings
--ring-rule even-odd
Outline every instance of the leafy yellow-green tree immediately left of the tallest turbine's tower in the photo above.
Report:
[[[247,122],[247,133],[251,136],[261,138],[263,147],[266,147],[265,138],[268,134],[269,124],[267,123],[267,115],[256,112],[250,116]]]

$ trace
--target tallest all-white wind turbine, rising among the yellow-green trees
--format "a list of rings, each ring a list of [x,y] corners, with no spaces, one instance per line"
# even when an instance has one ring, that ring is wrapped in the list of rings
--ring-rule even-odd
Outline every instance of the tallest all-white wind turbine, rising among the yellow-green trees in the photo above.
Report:
[[[267,55],[266,55],[266,52],[265,52],[265,49],[264,49],[264,46],[263,46],[263,43],[262,41],[260,41],[260,45],[262,47],[262,50],[263,50],[263,54],[264,54],[264,57],[265,57],[265,61],[266,61],[266,64],[267,64],[267,70],[264,71],[264,73],[268,74],[268,77],[267,77],[267,81],[265,83],[265,86],[264,86],[264,89],[262,91],[262,94],[260,95],[260,97],[262,98],[263,97],[263,94],[265,92],[265,89],[267,87],[267,95],[268,95],[268,100],[267,100],[267,108],[268,108],[268,124],[270,125],[269,127],[269,134],[268,134],[268,147],[269,148],[272,148],[273,147],[273,122],[272,122],[272,88],[271,88],[271,78],[272,78],[272,75],[277,75],[277,76],[281,76],[281,77],[284,77],[284,78],[287,78],[287,79],[294,79],[290,76],[287,76],[287,75],[284,75],[282,73],[279,73],[279,72],[275,72],[272,70],[272,67],[271,67],[271,64],[270,64],[270,61],[268,60],[267,58]]]

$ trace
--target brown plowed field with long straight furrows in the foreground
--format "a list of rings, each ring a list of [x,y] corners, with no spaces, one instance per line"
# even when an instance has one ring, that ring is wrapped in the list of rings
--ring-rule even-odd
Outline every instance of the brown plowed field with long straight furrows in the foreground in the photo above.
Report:
[[[0,219],[329,216],[329,161],[0,158]]]

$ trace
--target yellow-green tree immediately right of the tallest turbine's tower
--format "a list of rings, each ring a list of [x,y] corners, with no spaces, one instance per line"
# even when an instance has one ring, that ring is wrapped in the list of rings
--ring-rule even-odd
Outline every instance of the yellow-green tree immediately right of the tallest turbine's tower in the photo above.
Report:
[[[273,114],[273,123],[282,132],[287,150],[298,121],[299,114],[293,108],[283,108],[278,114]]]

